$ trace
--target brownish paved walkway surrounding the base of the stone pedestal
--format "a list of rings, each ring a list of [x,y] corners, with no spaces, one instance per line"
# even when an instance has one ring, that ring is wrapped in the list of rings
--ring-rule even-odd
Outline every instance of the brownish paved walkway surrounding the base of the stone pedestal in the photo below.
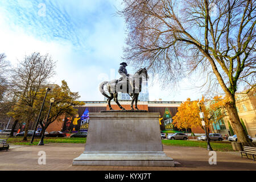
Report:
[[[256,161],[241,159],[240,152],[217,152],[217,164],[210,165],[209,151],[199,147],[164,146],[176,167],[72,166],[72,160],[84,151],[85,144],[49,143],[44,146],[11,147],[0,151],[0,171],[87,170],[87,171],[184,171],[184,170],[256,170]],[[38,152],[46,152],[46,165],[38,164]]]

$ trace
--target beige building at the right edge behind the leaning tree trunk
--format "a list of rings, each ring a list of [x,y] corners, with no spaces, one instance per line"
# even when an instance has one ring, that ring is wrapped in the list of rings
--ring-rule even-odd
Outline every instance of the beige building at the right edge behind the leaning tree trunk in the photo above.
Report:
[[[251,137],[256,134],[256,92],[255,89],[249,93],[236,94],[236,106],[240,119],[245,123],[246,130]],[[229,117],[224,117],[226,129],[228,129]]]

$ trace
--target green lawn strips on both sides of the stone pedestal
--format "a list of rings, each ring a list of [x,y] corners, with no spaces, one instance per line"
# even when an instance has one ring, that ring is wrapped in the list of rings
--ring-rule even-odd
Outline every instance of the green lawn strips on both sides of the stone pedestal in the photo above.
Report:
[[[28,142],[22,141],[23,137],[10,137],[8,142],[14,145],[30,145],[31,137],[28,137]],[[40,138],[35,138],[33,145],[37,145]],[[86,138],[55,138],[45,137],[44,143],[85,143]],[[203,147],[207,148],[207,142],[197,140],[162,140],[162,143],[167,146],[184,146],[184,147]],[[230,142],[210,142],[213,150],[216,151],[233,151]]]

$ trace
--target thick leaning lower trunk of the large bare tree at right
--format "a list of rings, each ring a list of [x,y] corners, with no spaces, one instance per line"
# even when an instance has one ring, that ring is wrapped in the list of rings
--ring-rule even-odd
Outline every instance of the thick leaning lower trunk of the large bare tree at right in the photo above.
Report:
[[[250,139],[247,137],[242,123],[240,122],[234,96],[228,97],[228,102],[226,102],[225,107],[229,114],[230,124],[237,135],[237,141],[241,143],[250,142]]]

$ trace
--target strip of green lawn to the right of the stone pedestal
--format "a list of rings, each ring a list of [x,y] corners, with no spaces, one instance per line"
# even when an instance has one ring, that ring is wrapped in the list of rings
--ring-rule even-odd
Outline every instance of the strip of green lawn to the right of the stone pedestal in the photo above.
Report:
[[[166,146],[184,146],[184,147],[203,147],[207,148],[206,141],[197,140],[162,140],[162,143]],[[210,146],[214,151],[233,151],[231,142],[210,142]]]

